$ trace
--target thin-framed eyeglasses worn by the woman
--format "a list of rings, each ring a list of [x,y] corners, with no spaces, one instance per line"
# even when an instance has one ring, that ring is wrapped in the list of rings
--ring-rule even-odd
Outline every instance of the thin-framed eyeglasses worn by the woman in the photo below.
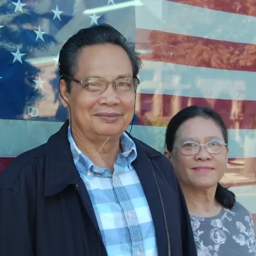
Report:
[[[227,143],[221,140],[211,140],[206,144],[198,144],[197,142],[185,142],[179,148],[180,152],[186,156],[196,155],[200,151],[200,146],[205,146],[205,150],[210,154],[218,154],[223,151]]]

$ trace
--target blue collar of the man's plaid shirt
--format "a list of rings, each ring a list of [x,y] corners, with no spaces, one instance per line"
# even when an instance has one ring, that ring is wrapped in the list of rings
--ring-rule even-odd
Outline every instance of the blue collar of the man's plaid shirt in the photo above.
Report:
[[[91,172],[95,174],[94,169],[95,167],[98,166],[96,166],[86,155],[84,155],[79,150],[71,134],[70,125],[68,127],[68,140],[70,143],[71,154],[73,156],[73,160],[78,169],[78,172],[84,173],[84,170],[91,170]],[[119,161],[117,160],[117,162],[127,161],[129,169],[132,169],[132,162],[137,157],[136,145],[134,141],[125,132],[120,136],[120,145],[122,148],[122,153],[118,155]],[[99,176],[98,172],[96,174]],[[89,179],[92,179],[93,176],[94,175],[87,175]]]

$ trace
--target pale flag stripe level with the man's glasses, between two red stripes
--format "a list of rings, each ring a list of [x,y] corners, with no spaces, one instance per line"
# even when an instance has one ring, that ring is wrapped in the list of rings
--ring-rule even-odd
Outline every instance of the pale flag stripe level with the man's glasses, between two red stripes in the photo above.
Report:
[[[139,93],[256,100],[255,72],[191,67],[149,60],[144,60],[143,65]]]

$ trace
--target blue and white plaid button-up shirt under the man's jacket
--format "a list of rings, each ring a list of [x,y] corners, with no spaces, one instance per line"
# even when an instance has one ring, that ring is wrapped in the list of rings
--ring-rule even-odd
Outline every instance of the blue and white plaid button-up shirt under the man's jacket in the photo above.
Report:
[[[74,163],[86,185],[102,234],[111,256],[157,256],[155,227],[144,191],[132,162],[135,143],[125,133],[120,137],[122,154],[114,173],[96,166],[76,146],[69,127],[68,139]]]

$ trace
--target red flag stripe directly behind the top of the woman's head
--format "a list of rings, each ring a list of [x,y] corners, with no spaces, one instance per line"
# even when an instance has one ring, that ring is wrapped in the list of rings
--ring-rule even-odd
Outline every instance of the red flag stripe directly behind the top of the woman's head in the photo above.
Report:
[[[178,111],[189,105],[209,106],[223,118],[227,129],[256,129],[254,100],[195,98],[165,94],[138,94],[138,124],[166,126]]]

